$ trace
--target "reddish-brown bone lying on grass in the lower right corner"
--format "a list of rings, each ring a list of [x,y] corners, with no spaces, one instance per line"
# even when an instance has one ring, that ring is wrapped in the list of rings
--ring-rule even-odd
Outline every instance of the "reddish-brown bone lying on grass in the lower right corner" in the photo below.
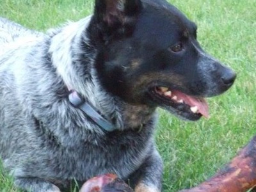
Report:
[[[256,186],[256,136],[214,177],[180,192],[246,192]]]

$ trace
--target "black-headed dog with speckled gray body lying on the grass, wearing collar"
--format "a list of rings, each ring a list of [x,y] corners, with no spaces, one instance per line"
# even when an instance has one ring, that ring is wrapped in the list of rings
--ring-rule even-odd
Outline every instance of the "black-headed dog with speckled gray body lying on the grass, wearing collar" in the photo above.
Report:
[[[104,173],[161,191],[156,108],[207,117],[204,98],[236,79],[164,0],[95,0],[93,15],[45,34],[0,26],[19,36],[0,54],[0,156],[25,191],[65,191]]]

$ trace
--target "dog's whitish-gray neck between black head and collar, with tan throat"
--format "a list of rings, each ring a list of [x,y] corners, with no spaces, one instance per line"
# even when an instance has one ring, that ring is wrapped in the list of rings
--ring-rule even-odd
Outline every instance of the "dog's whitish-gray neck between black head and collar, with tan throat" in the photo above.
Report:
[[[146,105],[127,104],[122,99],[104,91],[104,88],[100,86],[97,72],[93,66],[97,50],[90,50],[90,56],[84,54],[85,50],[80,50],[81,42],[84,44],[84,49],[89,50],[92,47],[86,31],[84,31],[84,24],[86,24],[86,28],[90,23],[90,19],[91,17],[87,17],[79,22],[65,26],[66,29],[63,31],[66,32],[61,32],[61,34],[58,31],[49,31],[48,34],[52,36],[52,42],[54,42],[49,49],[52,54],[52,65],[56,68],[57,74],[61,76],[69,90],[79,93],[92,108],[96,109],[95,111],[99,111],[97,116],[104,116],[105,120],[118,130],[138,129],[138,127],[147,124],[153,118],[155,108],[150,108]],[[63,42],[65,42],[64,45]],[[58,45],[62,45],[61,51]],[[76,50],[76,52],[70,50]],[[83,67],[83,72],[78,70],[76,65]]]

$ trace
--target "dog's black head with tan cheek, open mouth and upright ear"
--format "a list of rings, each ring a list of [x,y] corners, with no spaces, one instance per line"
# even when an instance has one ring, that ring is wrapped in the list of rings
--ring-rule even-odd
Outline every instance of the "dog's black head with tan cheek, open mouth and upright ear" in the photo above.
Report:
[[[131,104],[198,120],[208,116],[204,97],[236,79],[200,47],[196,24],[164,0],[97,0],[87,32],[103,87]]]

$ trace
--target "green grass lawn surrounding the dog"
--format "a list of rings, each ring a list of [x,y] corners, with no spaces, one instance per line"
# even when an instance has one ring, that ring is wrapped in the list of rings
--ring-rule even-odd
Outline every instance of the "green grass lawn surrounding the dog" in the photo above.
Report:
[[[211,177],[255,134],[256,1],[170,1],[198,24],[198,40],[237,72],[236,84],[209,99],[211,118],[183,122],[160,111],[156,141],[164,159],[164,191]],[[0,15],[45,30],[92,13],[92,0],[0,0]],[[15,191],[0,173],[0,191]]]

